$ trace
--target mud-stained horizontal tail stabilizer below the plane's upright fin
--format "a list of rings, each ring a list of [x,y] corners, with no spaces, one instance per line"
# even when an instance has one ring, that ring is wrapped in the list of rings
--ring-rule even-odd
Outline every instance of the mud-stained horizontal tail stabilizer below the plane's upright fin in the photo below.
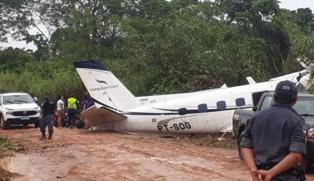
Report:
[[[127,118],[127,116],[116,113],[105,107],[97,108],[96,105],[83,111],[81,115],[85,125],[88,126],[99,126],[106,122],[116,122]]]

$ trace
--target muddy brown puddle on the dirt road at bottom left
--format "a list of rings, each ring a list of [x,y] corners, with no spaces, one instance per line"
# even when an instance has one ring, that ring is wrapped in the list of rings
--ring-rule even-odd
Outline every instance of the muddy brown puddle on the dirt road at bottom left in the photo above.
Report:
[[[49,172],[43,170],[44,165],[35,163],[35,158],[27,155],[5,157],[0,160],[0,166],[10,172],[25,176],[13,181],[43,181],[49,178]]]

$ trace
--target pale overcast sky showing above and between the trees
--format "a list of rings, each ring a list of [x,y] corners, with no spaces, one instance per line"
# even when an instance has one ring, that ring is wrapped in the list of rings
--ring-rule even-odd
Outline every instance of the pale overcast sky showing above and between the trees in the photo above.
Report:
[[[314,0],[280,0],[281,3],[279,4],[281,8],[286,8],[290,10],[297,10],[297,8],[306,8],[309,7],[310,9],[314,10]],[[40,26],[41,30],[44,32],[45,28],[43,26]],[[38,31],[37,29],[31,29],[31,34],[36,34]],[[26,48],[26,49],[33,49],[36,50],[37,48],[33,44],[26,44],[26,42],[16,42],[13,41],[9,37],[8,43],[2,43],[0,44],[0,47],[17,47],[17,48]]]

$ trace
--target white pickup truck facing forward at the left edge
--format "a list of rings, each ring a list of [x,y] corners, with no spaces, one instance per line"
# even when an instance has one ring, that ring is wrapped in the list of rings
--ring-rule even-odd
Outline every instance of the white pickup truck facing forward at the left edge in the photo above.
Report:
[[[0,127],[35,124],[39,127],[40,107],[27,93],[0,93]]]

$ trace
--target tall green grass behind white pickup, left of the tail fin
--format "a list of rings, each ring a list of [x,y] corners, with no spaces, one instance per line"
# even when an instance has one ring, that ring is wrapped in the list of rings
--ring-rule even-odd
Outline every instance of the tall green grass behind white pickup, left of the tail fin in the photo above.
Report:
[[[50,72],[50,76],[45,77],[40,74],[30,70],[21,74],[1,72],[0,90],[34,93],[39,100],[44,99],[46,92],[50,92],[54,98],[58,95],[68,98],[72,93],[82,98],[85,87],[74,68],[55,69]]]

